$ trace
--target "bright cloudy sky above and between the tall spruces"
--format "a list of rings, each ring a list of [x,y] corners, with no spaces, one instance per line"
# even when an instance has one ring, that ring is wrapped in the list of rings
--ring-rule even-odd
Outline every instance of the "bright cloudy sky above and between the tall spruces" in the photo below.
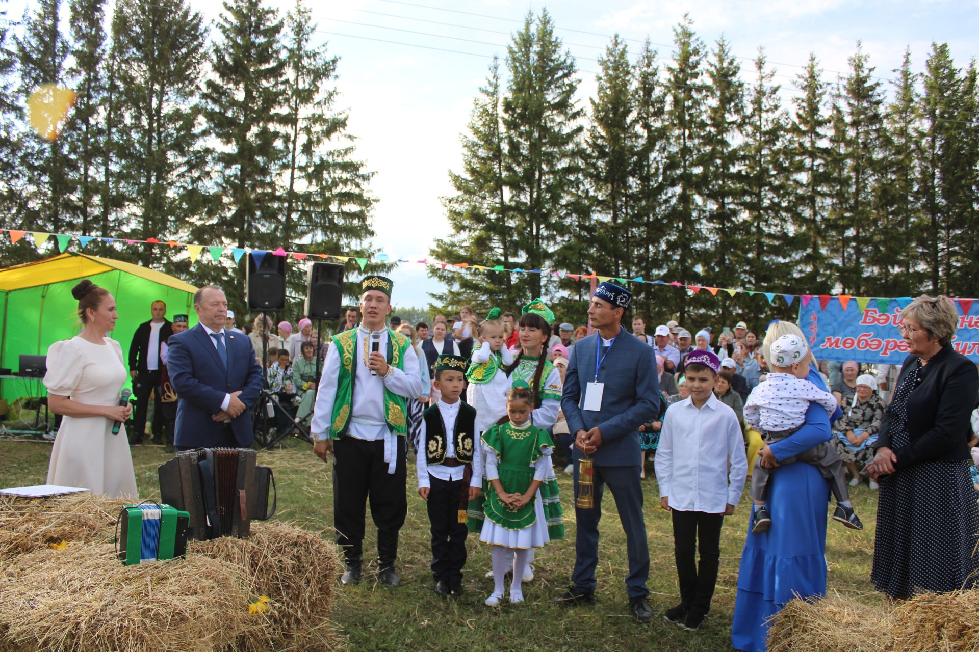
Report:
[[[283,12],[295,2],[270,1]],[[190,2],[216,21],[220,2]],[[976,0],[307,2],[317,37],[341,57],[339,108],[349,110],[359,154],[377,174],[375,243],[393,259],[425,258],[432,240],[447,233],[440,197],[450,192],[447,171],[459,167],[459,134],[490,58],[505,56],[510,33],[528,11],[546,7],[578,58],[582,103],[593,93],[595,60],[612,33],[627,39],[633,55],[648,35],[668,58],[673,27],[684,13],[708,43],[725,36],[743,57],[745,74],[764,47],[776,81],[787,89],[810,52],[827,77],[846,70],[858,40],[884,79],[894,76],[907,47],[916,69],[923,67],[932,41],[950,43],[959,65],[979,54]],[[20,15],[18,5],[23,6],[11,3],[13,17]],[[790,90],[783,95],[786,102],[792,97]],[[417,264],[402,264],[393,276],[396,304],[402,306],[426,304],[428,293],[440,286]]]

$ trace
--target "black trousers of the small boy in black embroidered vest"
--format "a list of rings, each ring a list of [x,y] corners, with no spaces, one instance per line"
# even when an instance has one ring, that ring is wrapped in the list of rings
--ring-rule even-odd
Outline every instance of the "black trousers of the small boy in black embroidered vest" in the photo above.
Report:
[[[429,474],[428,512],[432,524],[432,576],[438,582],[462,582],[466,565],[466,534],[469,529],[459,523],[459,499],[469,491],[464,480],[441,480]]]

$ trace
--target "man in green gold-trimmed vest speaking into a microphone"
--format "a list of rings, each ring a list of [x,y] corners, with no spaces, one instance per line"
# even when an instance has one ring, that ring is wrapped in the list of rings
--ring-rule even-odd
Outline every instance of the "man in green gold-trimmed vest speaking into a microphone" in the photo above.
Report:
[[[333,336],[310,426],[313,453],[324,461],[334,456],[333,519],[347,565],[345,585],[360,581],[368,499],[379,580],[400,583],[397,534],[408,509],[405,402],[423,387],[411,342],[386,326],[393,286],[376,275],[360,282],[361,323]]]

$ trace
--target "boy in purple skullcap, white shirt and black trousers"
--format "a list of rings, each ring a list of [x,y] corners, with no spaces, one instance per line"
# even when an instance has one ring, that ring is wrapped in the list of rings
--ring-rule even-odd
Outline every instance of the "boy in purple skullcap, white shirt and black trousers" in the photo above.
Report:
[[[711,351],[687,356],[683,373],[690,396],[667,410],[656,451],[660,498],[673,512],[680,596],[664,618],[689,631],[697,630],[711,609],[721,562],[721,525],[724,516],[734,513],[748,475],[741,424],[714,395],[720,369]]]

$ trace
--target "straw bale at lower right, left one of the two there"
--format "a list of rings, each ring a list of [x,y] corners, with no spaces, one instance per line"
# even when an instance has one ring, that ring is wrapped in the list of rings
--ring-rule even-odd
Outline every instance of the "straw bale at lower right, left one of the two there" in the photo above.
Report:
[[[839,594],[817,600],[795,598],[771,617],[769,652],[882,652],[895,648],[880,632],[894,625],[886,606],[871,606]]]

